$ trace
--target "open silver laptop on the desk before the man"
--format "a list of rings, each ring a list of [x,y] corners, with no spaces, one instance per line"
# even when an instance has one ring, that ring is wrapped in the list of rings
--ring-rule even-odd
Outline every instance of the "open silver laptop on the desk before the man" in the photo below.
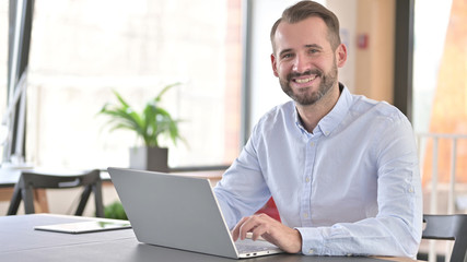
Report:
[[[109,167],[140,242],[243,259],[282,252],[267,241],[233,241],[209,179]]]

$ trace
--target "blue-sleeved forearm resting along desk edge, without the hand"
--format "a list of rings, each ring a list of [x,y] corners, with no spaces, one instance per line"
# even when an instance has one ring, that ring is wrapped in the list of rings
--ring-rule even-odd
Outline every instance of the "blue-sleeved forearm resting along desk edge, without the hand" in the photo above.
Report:
[[[393,255],[415,258],[420,243],[418,228],[398,217],[367,218],[331,227],[296,228],[302,252],[314,255]]]

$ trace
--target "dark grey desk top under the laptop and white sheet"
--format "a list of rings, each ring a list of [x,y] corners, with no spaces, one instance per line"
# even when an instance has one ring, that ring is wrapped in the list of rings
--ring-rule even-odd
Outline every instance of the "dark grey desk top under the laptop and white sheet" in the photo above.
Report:
[[[138,242],[132,229],[90,234],[61,234],[34,230],[34,226],[91,221],[95,218],[63,215],[19,215],[0,217],[0,261],[237,261]],[[305,257],[276,254],[242,260],[275,262],[372,262],[374,258]],[[412,261],[407,259],[393,261]]]

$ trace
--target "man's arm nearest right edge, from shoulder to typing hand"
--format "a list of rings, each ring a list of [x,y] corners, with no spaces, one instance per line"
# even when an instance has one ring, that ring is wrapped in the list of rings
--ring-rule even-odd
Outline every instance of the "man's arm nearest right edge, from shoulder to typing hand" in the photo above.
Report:
[[[304,254],[413,258],[421,238],[422,206],[410,124],[404,120],[390,122],[378,132],[375,144],[378,162],[376,217],[329,227],[290,228],[266,215],[254,215],[237,224],[233,237],[243,239],[246,233],[253,233],[254,238],[261,236],[284,251],[301,250]]]

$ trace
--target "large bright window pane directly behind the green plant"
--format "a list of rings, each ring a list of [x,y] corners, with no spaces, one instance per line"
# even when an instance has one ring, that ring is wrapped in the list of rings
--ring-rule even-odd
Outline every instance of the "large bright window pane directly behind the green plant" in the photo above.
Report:
[[[135,135],[108,132],[97,112],[116,102],[112,90],[141,109],[174,82],[183,84],[163,106],[183,120],[187,144],[164,143],[170,166],[230,165],[237,156],[240,0],[48,0],[35,2],[33,19],[27,160],[128,166]]]

